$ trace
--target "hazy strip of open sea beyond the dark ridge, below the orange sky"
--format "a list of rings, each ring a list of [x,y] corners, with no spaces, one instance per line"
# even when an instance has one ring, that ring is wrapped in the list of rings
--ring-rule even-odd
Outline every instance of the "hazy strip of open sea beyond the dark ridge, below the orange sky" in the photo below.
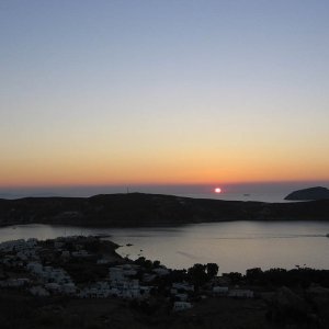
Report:
[[[188,197],[285,202],[284,197],[295,190],[325,186],[329,181],[307,182],[263,182],[225,184],[125,184],[125,185],[79,185],[79,186],[39,186],[39,188],[0,188],[0,198],[20,198],[26,196],[82,196],[111,193],[157,193]],[[215,189],[220,189],[216,193]]]

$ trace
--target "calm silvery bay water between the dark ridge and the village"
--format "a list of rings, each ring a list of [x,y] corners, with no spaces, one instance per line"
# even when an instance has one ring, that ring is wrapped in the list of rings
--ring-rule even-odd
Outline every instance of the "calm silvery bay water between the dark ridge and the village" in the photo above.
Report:
[[[329,223],[321,222],[227,222],[170,228],[91,229],[48,225],[0,228],[0,241],[69,235],[111,235],[124,246],[122,256],[144,256],[169,268],[183,269],[196,262],[216,262],[220,272],[253,266],[285,268],[307,265],[329,269]],[[127,247],[127,243],[133,243]]]

